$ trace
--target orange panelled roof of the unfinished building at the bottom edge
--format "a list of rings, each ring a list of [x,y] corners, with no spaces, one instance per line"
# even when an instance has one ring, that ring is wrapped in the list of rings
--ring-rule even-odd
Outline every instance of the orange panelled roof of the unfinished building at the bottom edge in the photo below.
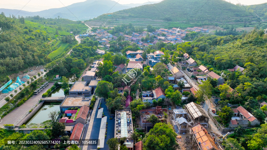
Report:
[[[215,144],[211,135],[205,134],[205,131],[203,131],[201,127],[205,129],[205,131],[208,133],[208,130],[201,124],[197,124],[191,127],[191,130],[193,131],[196,137],[197,143],[200,142],[200,144],[198,143],[198,146],[200,147],[200,149],[201,150],[209,150],[209,149],[219,150],[218,146]]]

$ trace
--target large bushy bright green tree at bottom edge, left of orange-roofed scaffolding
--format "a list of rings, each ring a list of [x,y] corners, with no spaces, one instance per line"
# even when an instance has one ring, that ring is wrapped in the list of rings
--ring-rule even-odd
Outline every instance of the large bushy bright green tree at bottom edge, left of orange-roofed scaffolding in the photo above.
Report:
[[[144,150],[175,150],[176,136],[170,124],[157,123],[143,139]]]

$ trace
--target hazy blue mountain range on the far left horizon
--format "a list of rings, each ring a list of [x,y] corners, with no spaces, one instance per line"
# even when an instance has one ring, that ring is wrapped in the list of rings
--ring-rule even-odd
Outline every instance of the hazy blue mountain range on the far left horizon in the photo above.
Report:
[[[38,12],[29,12],[23,11],[18,9],[4,9],[1,8],[0,12],[4,12],[7,17],[10,15],[18,15],[20,16],[36,16],[39,15],[40,17],[44,18],[55,18],[55,17],[62,17],[69,20],[89,20],[99,15],[105,13],[116,12],[122,9],[128,9],[131,7],[137,7],[145,4],[154,4],[157,2],[146,2],[143,4],[119,4],[116,1],[112,0],[87,0],[84,2],[74,3],[66,7],[61,8],[52,8],[47,10],[42,10]]]

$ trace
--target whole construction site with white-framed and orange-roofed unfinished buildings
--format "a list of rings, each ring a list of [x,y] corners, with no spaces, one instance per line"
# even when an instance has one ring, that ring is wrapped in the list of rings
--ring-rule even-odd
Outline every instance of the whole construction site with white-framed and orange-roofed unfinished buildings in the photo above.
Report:
[[[225,136],[218,136],[210,126],[210,119],[200,105],[191,102],[184,109],[173,110],[172,124],[181,140],[180,144],[190,150],[222,150]],[[181,135],[181,136],[179,136]]]

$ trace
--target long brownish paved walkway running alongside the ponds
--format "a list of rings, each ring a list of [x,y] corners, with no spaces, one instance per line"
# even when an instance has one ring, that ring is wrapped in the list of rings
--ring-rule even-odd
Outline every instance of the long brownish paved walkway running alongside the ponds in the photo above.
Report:
[[[36,102],[38,102],[42,95],[52,87],[54,83],[50,82],[47,87],[45,87],[44,90],[42,90],[38,95],[33,95],[30,99],[28,99],[25,103],[23,103],[21,106],[15,108],[13,111],[11,111],[9,114],[7,114],[4,118],[2,118],[2,125],[3,124],[14,124],[17,122],[23,115],[29,111],[29,109],[36,105]]]

